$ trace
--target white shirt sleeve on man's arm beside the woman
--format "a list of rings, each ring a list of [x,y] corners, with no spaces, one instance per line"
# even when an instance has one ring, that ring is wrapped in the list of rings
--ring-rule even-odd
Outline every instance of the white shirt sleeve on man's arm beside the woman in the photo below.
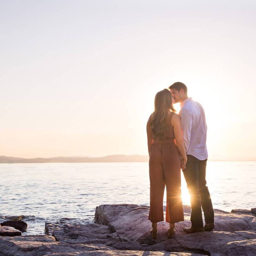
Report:
[[[187,153],[189,143],[190,143],[190,136],[191,136],[192,115],[188,109],[181,108],[180,118],[181,118],[181,133],[184,141],[185,151]]]

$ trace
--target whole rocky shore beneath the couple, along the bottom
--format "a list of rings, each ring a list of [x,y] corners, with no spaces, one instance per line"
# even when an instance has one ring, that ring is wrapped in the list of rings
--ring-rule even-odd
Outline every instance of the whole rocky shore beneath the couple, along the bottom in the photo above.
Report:
[[[100,205],[95,223],[45,223],[45,235],[25,235],[26,223],[15,226],[0,220],[0,256],[256,255],[255,208],[231,212],[215,209],[214,231],[190,235],[182,231],[190,226],[190,206],[183,208],[185,221],[176,224],[172,239],[167,238],[168,223],[160,222],[158,238],[152,240],[146,205]]]

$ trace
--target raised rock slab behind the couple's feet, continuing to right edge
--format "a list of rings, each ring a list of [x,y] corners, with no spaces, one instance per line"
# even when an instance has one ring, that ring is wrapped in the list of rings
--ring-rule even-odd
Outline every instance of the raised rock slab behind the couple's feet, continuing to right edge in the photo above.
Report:
[[[183,206],[185,221],[175,224],[175,237],[185,235],[183,228],[191,225],[190,207]],[[215,231],[256,230],[256,217],[250,210],[234,210],[225,212],[215,209]],[[122,241],[138,241],[140,244],[154,244],[168,240],[166,234],[169,224],[158,223],[158,238],[152,241],[150,235],[151,222],[148,220],[149,207],[136,204],[111,204],[96,207],[95,223],[108,225],[117,232]]]

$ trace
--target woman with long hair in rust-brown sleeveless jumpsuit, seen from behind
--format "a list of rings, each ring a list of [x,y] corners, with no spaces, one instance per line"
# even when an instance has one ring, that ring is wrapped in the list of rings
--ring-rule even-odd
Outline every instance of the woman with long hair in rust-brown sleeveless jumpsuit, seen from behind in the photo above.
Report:
[[[163,198],[166,185],[166,222],[170,223],[168,237],[172,238],[175,222],[183,221],[180,168],[185,169],[187,156],[181,136],[180,116],[172,106],[168,89],[157,92],[155,111],[147,123],[150,210],[152,238],[157,238],[157,222],[164,221]],[[181,156],[181,157],[180,157]]]

